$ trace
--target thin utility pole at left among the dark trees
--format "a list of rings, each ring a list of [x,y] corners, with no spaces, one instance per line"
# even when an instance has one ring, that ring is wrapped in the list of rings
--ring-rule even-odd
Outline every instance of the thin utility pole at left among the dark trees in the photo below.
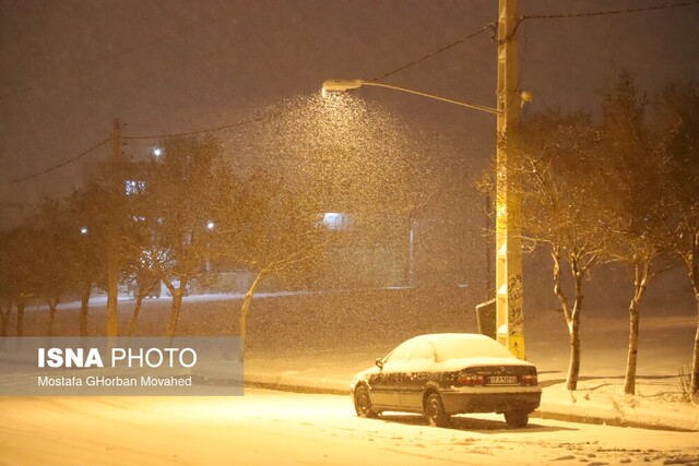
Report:
[[[114,202],[119,202],[119,195],[123,189],[119,179],[119,158],[121,155],[121,123],[118,118],[114,120],[114,130],[111,131],[111,196]],[[119,260],[117,252],[117,226],[118,222],[115,217],[118,213],[117,208],[112,208],[110,213],[109,232],[108,232],[108,258],[107,258],[107,336],[116,337],[118,330],[117,321],[117,296],[119,294]]]

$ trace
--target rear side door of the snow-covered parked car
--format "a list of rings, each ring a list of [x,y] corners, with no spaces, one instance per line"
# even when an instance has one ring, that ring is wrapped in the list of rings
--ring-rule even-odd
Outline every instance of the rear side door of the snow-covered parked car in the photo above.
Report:
[[[426,340],[417,342],[408,357],[400,392],[401,407],[406,410],[423,409],[423,394],[434,375],[435,346]]]

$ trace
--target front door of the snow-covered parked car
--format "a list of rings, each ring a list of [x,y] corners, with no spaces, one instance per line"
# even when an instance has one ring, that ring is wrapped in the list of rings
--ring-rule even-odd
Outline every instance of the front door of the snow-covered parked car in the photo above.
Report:
[[[403,369],[410,357],[413,344],[405,342],[382,360],[379,372],[371,375],[371,403],[376,406],[400,408],[401,382]]]

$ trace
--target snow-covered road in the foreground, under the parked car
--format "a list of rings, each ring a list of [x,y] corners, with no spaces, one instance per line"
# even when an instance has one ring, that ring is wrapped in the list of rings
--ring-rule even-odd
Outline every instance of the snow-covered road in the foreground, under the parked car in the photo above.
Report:
[[[244,397],[0,398],[0,464],[699,463],[697,433],[501,416],[354,416],[348,397],[247,390]]]

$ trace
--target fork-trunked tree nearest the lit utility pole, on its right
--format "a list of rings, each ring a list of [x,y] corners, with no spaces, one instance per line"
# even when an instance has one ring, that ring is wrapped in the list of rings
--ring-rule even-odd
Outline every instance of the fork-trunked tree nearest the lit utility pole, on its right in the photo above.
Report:
[[[580,373],[583,282],[600,263],[607,236],[600,217],[603,181],[596,175],[596,136],[587,115],[549,113],[521,128],[513,145],[522,151],[524,231],[550,248],[554,292],[570,340],[568,390],[577,389]],[[571,291],[566,290],[564,263],[572,279]]]

